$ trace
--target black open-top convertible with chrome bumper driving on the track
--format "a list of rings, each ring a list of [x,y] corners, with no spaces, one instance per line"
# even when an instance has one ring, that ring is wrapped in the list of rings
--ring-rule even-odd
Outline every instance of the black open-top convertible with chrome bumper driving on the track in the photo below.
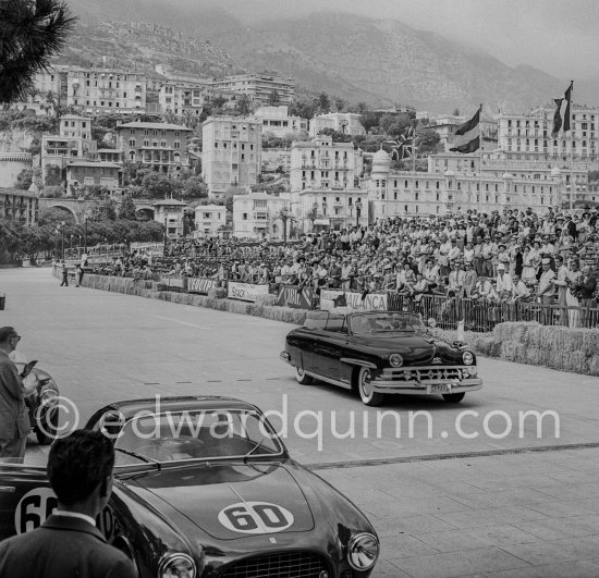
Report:
[[[482,388],[476,356],[436,337],[419,316],[400,311],[310,311],[285,339],[281,358],[302,384],[321,380],[355,390],[363,403],[386,394],[441,394],[457,403]]]

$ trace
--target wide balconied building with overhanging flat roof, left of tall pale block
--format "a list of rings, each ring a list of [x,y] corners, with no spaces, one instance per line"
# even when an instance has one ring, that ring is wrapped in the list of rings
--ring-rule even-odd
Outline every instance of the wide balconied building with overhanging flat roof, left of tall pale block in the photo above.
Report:
[[[155,171],[176,174],[190,167],[191,128],[179,124],[130,122],[117,127],[123,160]]]

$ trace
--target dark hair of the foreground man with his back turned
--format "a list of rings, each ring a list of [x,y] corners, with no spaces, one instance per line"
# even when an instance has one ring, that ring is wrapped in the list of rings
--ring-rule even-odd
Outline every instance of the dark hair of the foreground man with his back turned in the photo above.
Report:
[[[106,495],[106,479],[114,466],[112,442],[99,431],[75,430],[57,440],[48,456],[48,478],[61,504],[84,502],[99,483]]]

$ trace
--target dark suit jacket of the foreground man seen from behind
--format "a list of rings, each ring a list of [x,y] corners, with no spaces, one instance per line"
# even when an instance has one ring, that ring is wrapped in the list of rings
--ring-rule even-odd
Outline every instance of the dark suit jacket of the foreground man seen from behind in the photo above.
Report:
[[[52,515],[40,528],[0,542],[0,576],[137,578],[137,570],[95,526]]]

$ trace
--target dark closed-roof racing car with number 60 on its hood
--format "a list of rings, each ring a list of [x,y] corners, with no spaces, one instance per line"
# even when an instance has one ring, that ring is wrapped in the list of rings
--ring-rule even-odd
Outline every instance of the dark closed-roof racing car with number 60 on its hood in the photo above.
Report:
[[[351,578],[377,562],[366,517],[291,459],[250,404],[120,402],[86,427],[117,451],[98,526],[143,578]],[[53,507],[45,468],[0,464],[0,539],[36,528]]]

